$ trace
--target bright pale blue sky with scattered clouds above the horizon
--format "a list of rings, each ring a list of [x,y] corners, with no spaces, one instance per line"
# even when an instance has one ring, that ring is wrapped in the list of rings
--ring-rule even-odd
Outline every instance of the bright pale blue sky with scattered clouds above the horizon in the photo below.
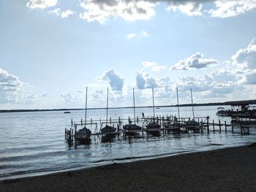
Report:
[[[256,99],[256,0],[0,0],[0,109]]]

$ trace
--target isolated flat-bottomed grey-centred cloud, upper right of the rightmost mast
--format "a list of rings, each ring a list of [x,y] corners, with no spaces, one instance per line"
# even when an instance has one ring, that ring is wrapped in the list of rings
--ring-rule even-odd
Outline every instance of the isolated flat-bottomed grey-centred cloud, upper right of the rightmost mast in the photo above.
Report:
[[[203,54],[195,53],[190,57],[178,61],[177,64],[171,67],[171,71],[180,71],[180,70],[190,70],[190,69],[202,69],[207,67],[210,64],[218,64],[213,58],[203,58]]]

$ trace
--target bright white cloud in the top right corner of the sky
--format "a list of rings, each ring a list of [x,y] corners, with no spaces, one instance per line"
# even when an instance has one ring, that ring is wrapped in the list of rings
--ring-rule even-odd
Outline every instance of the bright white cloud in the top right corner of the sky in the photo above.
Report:
[[[215,1],[217,9],[210,9],[208,12],[212,17],[230,18],[256,8],[255,0],[230,0]]]

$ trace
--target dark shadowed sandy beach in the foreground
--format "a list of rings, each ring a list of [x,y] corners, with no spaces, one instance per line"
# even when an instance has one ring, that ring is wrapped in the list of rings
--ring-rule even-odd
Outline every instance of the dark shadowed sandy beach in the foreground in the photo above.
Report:
[[[0,181],[0,191],[256,191],[256,147]]]

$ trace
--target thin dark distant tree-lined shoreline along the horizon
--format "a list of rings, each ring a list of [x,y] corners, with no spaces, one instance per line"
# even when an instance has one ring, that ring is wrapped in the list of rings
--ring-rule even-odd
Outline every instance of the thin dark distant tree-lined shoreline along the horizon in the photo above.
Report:
[[[256,104],[256,99],[244,100],[244,101],[225,101],[225,102],[214,102],[214,103],[203,103],[203,104],[193,104],[194,107],[197,106],[219,106],[219,105],[231,105],[231,104]],[[173,105],[156,105],[154,107],[191,107],[192,104],[173,104]],[[153,106],[138,106],[135,108],[151,108]],[[108,109],[129,109],[133,107],[108,107]],[[105,107],[88,108],[87,110],[105,110]],[[50,109],[50,110],[0,110],[0,112],[47,112],[47,111],[74,111],[74,110],[85,110],[84,108],[78,109]]]

